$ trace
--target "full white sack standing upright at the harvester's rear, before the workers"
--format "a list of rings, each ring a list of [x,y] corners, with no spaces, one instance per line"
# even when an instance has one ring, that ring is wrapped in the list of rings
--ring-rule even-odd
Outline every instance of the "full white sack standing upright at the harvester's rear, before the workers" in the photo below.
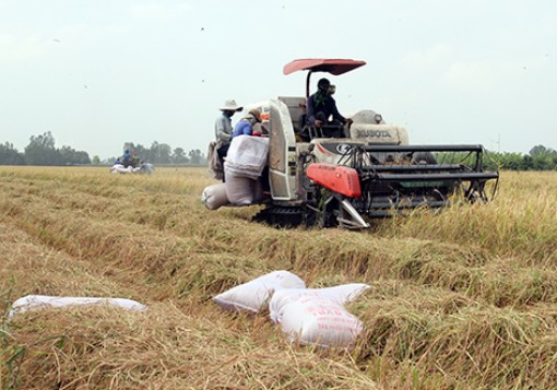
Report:
[[[238,135],[232,140],[224,163],[225,178],[230,175],[257,179],[266,165],[269,138]]]

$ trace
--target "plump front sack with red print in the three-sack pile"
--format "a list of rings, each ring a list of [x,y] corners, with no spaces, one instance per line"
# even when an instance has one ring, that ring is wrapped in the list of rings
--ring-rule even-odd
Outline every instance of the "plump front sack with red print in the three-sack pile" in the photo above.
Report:
[[[348,347],[364,324],[339,303],[309,295],[283,307],[281,329],[289,342]]]

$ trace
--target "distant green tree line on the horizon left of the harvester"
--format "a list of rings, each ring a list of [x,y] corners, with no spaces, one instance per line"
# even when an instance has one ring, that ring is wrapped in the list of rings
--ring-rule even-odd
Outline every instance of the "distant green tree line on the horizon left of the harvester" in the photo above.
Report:
[[[200,150],[186,152],[182,147],[175,147],[166,143],[153,141],[150,147],[141,144],[126,143],[141,161],[154,165],[204,165],[206,157]],[[55,137],[50,131],[40,135],[32,135],[23,152],[17,151],[10,142],[0,143],[0,165],[112,165],[119,156],[100,159],[98,156],[90,158],[87,152],[76,151],[70,146],[56,147]]]

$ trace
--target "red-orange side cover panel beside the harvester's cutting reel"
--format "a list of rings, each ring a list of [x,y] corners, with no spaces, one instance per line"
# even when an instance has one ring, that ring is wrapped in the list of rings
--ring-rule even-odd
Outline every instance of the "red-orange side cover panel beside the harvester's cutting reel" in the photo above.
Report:
[[[328,163],[310,164],[307,169],[308,178],[320,186],[348,198],[362,197],[358,173],[354,168]]]

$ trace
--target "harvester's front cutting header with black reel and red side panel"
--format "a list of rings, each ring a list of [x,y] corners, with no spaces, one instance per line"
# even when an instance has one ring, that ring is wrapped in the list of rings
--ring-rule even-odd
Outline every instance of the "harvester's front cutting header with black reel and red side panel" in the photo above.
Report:
[[[450,162],[438,163],[438,157]],[[484,172],[481,145],[358,145],[339,164],[313,163],[306,170],[307,225],[369,227],[372,217],[440,211],[455,199],[487,202],[485,186],[498,173]],[[458,159],[455,159],[458,158]]]

